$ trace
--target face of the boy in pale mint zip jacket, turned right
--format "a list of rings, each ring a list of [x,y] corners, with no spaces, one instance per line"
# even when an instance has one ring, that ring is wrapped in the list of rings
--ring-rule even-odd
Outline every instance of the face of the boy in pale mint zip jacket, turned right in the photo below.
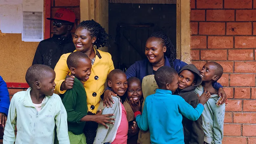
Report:
[[[41,82],[39,82],[39,92],[47,96],[52,96],[56,86],[54,80],[55,72],[53,70],[46,72],[45,77],[42,78]]]

